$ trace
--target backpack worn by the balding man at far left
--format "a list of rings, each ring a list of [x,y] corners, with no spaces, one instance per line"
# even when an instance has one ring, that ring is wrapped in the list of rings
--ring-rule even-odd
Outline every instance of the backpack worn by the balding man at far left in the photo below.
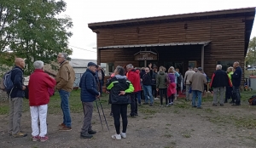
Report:
[[[12,76],[12,71],[18,69],[18,68],[14,68],[10,71],[7,71],[4,75],[3,75],[3,79],[0,83],[0,89],[2,89],[3,91],[10,91],[12,88],[14,88],[14,83],[11,80],[11,76]],[[19,70],[19,69],[18,69]]]

